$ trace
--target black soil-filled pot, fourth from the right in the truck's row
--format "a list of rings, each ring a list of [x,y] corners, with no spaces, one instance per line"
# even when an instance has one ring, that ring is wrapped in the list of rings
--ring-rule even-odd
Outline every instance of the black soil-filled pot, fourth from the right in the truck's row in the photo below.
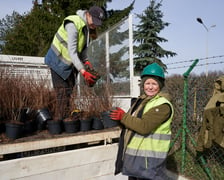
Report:
[[[66,133],[75,133],[80,129],[80,120],[71,117],[65,118],[63,120],[64,129]]]

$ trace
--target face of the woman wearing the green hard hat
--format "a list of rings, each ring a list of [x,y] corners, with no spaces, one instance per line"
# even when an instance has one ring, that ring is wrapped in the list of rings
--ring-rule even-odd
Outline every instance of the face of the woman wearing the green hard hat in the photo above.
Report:
[[[160,87],[156,80],[148,78],[144,83],[144,92],[147,96],[155,96],[159,93]]]

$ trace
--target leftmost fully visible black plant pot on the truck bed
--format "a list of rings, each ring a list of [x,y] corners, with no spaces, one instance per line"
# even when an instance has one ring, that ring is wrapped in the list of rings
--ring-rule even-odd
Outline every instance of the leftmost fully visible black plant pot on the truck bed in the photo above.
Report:
[[[5,134],[10,139],[18,139],[23,134],[23,124],[6,123]]]

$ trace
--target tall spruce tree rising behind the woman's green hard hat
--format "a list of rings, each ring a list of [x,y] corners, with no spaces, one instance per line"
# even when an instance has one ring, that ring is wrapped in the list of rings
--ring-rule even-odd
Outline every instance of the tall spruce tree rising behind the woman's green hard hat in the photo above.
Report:
[[[169,23],[162,20],[163,13],[160,11],[162,1],[156,3],[156,0],[151,0],[150,5],[142,14],[138,14],[140,19],[139,24],[134,31],[134,65],[135,73],[139,73],[142,69],[153,62],[160,64],[166,71],[166,65],[163,64],[160,58],[173,57],[176,53],[163,49],[159,44],[167,42],[167,39],[159,37],[158,34]]]

